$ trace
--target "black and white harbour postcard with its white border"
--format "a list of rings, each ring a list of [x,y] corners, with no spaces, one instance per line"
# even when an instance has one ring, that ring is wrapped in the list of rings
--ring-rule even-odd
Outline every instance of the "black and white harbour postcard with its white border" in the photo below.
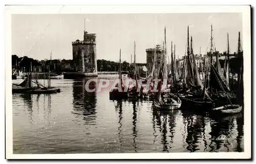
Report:
[[[251,158],[250,6],[5,8],[7,159]]]

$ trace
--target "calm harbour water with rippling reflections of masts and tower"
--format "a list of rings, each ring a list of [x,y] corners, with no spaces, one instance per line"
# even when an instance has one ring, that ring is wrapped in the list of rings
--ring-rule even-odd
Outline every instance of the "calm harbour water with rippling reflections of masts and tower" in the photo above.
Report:
[[[161,111],[151,100],[110,100],[108,89],[86,92],[87,80],[51,80],[61,89],[52,95],[13,94],[13,153],[244,151],[243,113]]]

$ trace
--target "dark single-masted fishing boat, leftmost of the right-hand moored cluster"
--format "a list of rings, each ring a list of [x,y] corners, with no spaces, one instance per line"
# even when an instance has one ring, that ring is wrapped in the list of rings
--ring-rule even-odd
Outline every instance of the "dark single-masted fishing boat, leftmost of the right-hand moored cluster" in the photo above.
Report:
[[[121,49],[119,53],[119,71],[118,72],[119,72],[118,74],[119,83],[116,84],[116,87],[120,85],[121,88],[119,89],[115,88],[113,90],[110,90],[111,100],[127,98],[127,92],[124,92],[124,83],[123,83],[122,72],[121,72]]]

